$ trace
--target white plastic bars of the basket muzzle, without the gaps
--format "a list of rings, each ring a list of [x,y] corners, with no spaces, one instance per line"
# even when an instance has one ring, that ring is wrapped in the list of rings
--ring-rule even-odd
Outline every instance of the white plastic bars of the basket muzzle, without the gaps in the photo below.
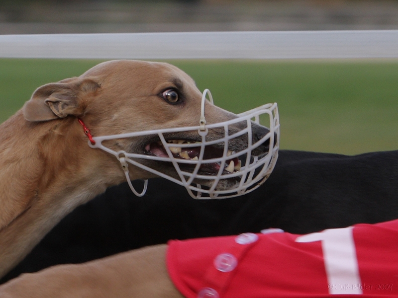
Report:
[[[279,150],[279,114],[278,114],[278,106],[276,103],[269,103],[262,105],[260,107],[254,108],[252,110],[246,111],[244,113],[238,114],[237,118],[213,124],[206,124],[206,120],[204,117],[204,102],[206,100],[206,94],[208,94],[209,101],[212,104],[212,96],[208,89],[205,89],[202,94],[201,101],[201,117],[199,126],[192,127],[178,127],[178,128],[166,128],[166,129],[158,129],[158,130],[148,130],[148,131],[140,131],[133,132],[127,134],[118,134],[118,135],[110,135],[110,136],[100,136],[94,137],[95,144],[93,145],[89,141],[89,146],[92,148],[102,149],[112,155],[114,155],[122,166],[122,169],[125,173],[128,185],[136,196],[143,196],[147,189],[147,180],[144,182],[144,188],[141,193],[137,192],[133,185],[131,184],[128,172],[128,164],[132,164],[139,168],[142,168],[148,172],[154,173],[160,177],[166,178],[170,181],[173,181],[179,185],[184,186],[191,197],[195,199],[221,199],[221,198],[231,198],[243,195],[245,193],[251,192],[257,187],[259,187],[271,174],[274,169],[275,163],[278,158],[278,150]],[[262,136],[260,140],[253,143],[252,142],[252,119],[255,123],[259,124],[259,119],[261,115],[268,115],[270,120],[269,132]],[[236,123],[246,123],[246,128],[229,135],[228,127],[230,125]],[[212,129],[223,129],[224,136],[220,137],[216,140],[206,140],[209,130]],[[181,132],[192,132],[197,131],[201,142],[199,143],[168,143],[165,139],[165,134],[170,133],[181,133]],[[247,147],[238,152],[234,152],[228,149],[229,142],[235,138],[242,138],[243,135],[247,134]],[[168,157],[163,156],[155,156],[148,155],[142,153],[129,153],[123,150],[114,151],[102,144],[103,141],[106,140],[114,140],[114,139],[123,139],[123,138],[133,138],[140,136],[153,136],[157,135],[168,155]],[[268,151],[264,152],[262,155],[254,156],[252,151],[261,145],[263,145],[266,141],[269,141]],[[222,156],[204,159],[204,150],[207,146],[215,145],[223,143],[223,152]],[[190,149],[190,148],[199,148],[199,155],[195,159],[191,158],[178,158],[173,155],[171,148],[181,148]],[[228,156],[228,154],[230,154]],[[239,158],[243,159],[244,163],[239,170],[228,172],[225,170],[228,165],[228,161]],[[140,159],[149,159],[156,161],[166,161],[171,162],[174,165],[175,170],[179,176],[179,179],[176,179],[169,174],[160,172],[154,168],[151,168],[145,164],[140,162]],[[235,159],[236,160],[236,159]],[[200,172],[201,166],[205,164],[218,164],[218,170],[213,174],[204,174]],[[192,167],[192,171],[188,172],[186,170],[182,170],[182,165],[190,165]],[[211,165],[210,165],[211,166]],[[205,186],[202,186],[195,182],[195,179],[199,179],[200,183],[203,183]],[[228,180],[225,180],[228,179]],[[228,182],[226,182],[228,181]],[[224,185],[226,184],[226,186]]]

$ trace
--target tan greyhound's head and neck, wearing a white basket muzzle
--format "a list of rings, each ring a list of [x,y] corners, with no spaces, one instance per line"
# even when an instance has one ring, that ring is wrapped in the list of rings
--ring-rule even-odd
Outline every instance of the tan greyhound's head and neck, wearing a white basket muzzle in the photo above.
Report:
[[[127,60],[39,87],[0,126],[0,276],[66,214],[126,177],[189,176],[213,197],[258,185],[258,168],[238,176],[270,155],[275,132],[203,98],[178,68]]]

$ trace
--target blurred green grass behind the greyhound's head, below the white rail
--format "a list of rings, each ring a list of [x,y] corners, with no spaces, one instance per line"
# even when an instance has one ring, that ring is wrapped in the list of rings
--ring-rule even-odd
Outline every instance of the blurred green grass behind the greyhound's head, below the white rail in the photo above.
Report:
[[[0,122],[38,86],[98,60],[0,59]],[[169,61],[235,113],[277,102],[281,148],[356,154],[398,149],[398,61]]]

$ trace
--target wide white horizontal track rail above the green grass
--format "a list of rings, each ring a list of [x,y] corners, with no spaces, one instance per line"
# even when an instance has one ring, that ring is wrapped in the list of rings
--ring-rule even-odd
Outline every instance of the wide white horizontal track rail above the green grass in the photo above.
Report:
[[[0,35],[0,58],[398,58],[398,30]]]

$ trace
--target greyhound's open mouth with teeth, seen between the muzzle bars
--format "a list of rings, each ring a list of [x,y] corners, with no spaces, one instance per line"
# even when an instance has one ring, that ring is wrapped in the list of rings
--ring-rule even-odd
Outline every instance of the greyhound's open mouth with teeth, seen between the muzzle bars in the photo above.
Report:
[[[185,160],[199,160],[201,147],[199,146],[200,142],[197,141],[187,141],[187,140],[167,140],[168,146],[172,155],[176,159],[185,159]],[[176,144],[177,146],[172,146],[172,144]],[[198,146],[195,146],[198,144]],[[184,146],[185,145],[185,146]],[[165,147],[163,146],[161,141],[149,143],[145,146],[145,153],[158,156],[158,157],[169,157]],[[226,156],[231,156],[235,152],[232,150],[227,150]],[[224,154],[224,149],[216,146],[205,146],[202,160],[220,158]],[[181,163],[184,168],[194,168],[195,163]],[[238,157],[226,158],[224,168],[222,170],[222,174],[230,174],[235,173],[240,170],[242,166],[242,161]],[[199,170],[200,172],[216,175],[221,167],[221,161],[218,162],[201,162]]]

